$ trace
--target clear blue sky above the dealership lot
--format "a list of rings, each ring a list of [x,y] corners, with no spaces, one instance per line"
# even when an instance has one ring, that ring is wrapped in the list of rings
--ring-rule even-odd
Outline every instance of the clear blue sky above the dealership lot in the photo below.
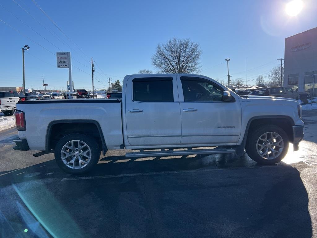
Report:
[[[73,67],[75,88],[92,89],[89,61],[93,57],[95,87],[101,89],[108,77],[122,81],[139,69],[155,71],[151,56],[157,44],[174,36],[200,44],[201,74],[226,80],[225,58],[231,58],[231,79],[245,80],[247,58],[247,80],[254,83],[257,75],[265,76],[279,65],[276,59],[284,57],[286,37],[317,26],[314,0],[303,0],[304,8],[296,17],[285,13],[286,0],[35,0],[75,46],[32,0],[14,1],[0,2],[0,19],[16,29],[0,21],[0,86],[22,86],[21,48],[25,44],[30,46],[25,53],[26,88],[42,87],[42,74],[48,88],[66,88],[68,69],[57,69],[56,56],[49,52],[61,49],[72,52],[72,64],[79,68]]]

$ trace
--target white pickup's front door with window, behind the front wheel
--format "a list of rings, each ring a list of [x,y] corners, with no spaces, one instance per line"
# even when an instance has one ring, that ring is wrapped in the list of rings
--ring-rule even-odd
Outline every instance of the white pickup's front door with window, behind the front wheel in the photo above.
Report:
[[[236,143],[241,133],[240,101],[222,100],[223,88],[208,78],[180,76],[181,144]]]

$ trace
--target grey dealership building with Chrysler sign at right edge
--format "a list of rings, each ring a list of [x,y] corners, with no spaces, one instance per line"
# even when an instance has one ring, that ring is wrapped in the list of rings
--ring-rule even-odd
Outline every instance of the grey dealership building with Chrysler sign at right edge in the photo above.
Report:
[[[284,86],[317,94],[317,27],[285,39]]]

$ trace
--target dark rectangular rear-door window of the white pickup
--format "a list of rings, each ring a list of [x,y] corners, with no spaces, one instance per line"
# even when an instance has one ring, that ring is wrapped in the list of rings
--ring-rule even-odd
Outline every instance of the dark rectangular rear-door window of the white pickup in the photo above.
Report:
[[[174,102],[172,77],[134,78],[133,101]]]

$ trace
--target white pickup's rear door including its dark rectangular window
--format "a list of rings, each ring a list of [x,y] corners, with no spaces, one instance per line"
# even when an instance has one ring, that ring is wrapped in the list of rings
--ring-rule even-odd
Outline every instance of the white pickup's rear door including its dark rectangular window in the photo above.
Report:
[[[126,88],[128,143],[179,145],[182,131],[176,76],[132,76]]]

